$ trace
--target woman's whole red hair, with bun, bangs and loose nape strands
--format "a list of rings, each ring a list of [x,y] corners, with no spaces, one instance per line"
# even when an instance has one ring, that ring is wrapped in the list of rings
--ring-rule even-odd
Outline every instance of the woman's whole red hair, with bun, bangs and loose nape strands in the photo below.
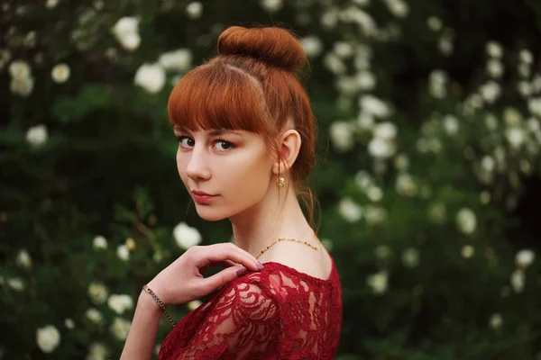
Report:
[[[217,51],[175,85],[168,103],[170,121],[192,131],[252,131],[275,151],[273,140],[281,131],[297,130],[301,147],[289,173],[314,228],[316,198],[304,182],[315,163],[316,121],[298,81],[307,65],[304,50],[285,29],[232,26],[220,34]]]

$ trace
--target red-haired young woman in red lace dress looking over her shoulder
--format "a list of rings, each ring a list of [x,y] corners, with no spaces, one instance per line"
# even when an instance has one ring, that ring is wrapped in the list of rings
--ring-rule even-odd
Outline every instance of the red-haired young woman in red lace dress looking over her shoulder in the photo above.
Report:
[[[217,49],[180,79],[168,111],[179,175],[197,214],[229,219],[234,244],[192,247],[145,285],[122,358],[151,358],[164,305],[221,286],[171,330],[160,359],[332,359],[342,288],[313,229],[314,202],[303,184],[316,141],[296,77],[306,55],[289,31],[275,27],[230,27]],[[299,198],[307,200],[310,221]],[[213,265],[229,267],[204,278]]]

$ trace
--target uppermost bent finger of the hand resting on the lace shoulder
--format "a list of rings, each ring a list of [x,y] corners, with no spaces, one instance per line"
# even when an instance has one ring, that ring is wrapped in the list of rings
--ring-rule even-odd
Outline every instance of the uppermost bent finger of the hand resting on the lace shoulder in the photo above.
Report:
[[[255,257],[231,243],[209,245],[200,247],[197,250],[196,262],[198,267],[230,260],[252,271],[261,270],[257,266],[259,262]]]

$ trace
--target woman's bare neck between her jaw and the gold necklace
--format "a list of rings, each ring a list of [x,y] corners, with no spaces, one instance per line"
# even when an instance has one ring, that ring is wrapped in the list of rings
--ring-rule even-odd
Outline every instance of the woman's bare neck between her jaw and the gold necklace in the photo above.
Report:
[[[278,238],[315,238],[292,188],[286,190],[272,185],[261,202],[229,218],[233,226],[234,243],[257,257],[261,250]]]

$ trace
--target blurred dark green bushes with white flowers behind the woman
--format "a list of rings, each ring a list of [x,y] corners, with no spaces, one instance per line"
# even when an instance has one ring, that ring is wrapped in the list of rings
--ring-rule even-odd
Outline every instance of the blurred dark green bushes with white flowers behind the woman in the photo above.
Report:
[[[310,61],[309,184],[344,285],[336,359],[541,359],[540,2],[0,11],[0,358],[118,358],[142,284],[230,241],[180,182],[167,99],[227,26],[279,25]]]

